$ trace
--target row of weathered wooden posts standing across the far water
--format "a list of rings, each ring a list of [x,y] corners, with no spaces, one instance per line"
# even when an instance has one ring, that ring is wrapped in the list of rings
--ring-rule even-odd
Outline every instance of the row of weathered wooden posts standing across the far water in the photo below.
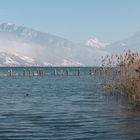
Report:
[[[45,68],[23,68],[20,70],[16,70],[14,68],[9,68],[6,71],[1,71],[0,69],[0,76],[8,76],[8,77],[45,77],[45,76],[95,76],[96,70],[89,69],[89,70],[81,70],[80,68],[77,69],[57,69],[51,68],[51,70],[47,70]]]

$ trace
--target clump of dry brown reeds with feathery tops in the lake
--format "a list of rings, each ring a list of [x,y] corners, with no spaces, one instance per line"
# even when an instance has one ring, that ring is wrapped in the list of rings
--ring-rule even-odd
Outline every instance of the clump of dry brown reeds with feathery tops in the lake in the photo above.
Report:
[[[101,74],[106,93],[119,93],[140,105],[140,54],[130,50],[102,57]]]

